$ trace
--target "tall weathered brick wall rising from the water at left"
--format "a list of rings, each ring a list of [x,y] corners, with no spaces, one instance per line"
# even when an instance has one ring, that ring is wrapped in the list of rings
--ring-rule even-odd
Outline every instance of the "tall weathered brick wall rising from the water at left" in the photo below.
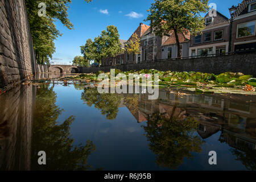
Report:
[[[0,88],[10,89],[35,72],[24,0],[0,0]]]

